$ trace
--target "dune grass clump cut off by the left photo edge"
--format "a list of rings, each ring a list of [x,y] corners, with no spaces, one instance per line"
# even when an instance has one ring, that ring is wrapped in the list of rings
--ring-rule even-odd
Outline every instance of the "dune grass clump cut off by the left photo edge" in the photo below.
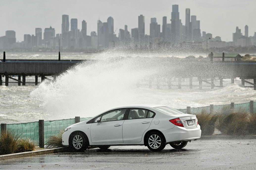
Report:
[[[19,139],[20,135],[13,131],[2,132],[0,136],[0,155],[15,153]]]

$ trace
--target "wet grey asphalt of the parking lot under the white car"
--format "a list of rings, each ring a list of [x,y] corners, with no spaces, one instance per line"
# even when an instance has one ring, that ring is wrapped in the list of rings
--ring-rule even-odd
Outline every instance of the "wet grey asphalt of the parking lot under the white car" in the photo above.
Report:
[[[112,146],[0,161],[0,169],[256,169],[256,139],[196,140],[162,152],[145,146]]]

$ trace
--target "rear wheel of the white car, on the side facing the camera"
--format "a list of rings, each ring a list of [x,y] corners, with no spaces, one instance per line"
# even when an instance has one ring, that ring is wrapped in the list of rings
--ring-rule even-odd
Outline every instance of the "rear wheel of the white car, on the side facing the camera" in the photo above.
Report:
[[[146,136],[146,146],[153,152],[159,152],[166,146],[164,135],[159,132],[151,132]]]

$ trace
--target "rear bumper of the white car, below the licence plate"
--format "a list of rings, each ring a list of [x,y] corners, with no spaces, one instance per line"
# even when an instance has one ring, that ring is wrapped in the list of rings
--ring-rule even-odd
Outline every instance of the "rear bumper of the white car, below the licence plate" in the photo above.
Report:
[[[172,129],[164,130],[162,133],[165,136],[166,143],[174,141],[189,141],[199,139],[201,137],[200,126],[196,128],[186,129],[185,127],[174,126]]]

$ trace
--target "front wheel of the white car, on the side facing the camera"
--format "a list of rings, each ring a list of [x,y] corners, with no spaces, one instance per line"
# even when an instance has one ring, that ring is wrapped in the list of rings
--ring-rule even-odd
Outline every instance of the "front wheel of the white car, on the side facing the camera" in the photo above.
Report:
[[[76,152],[85,151],[89,146],[87,136],[81,132],[71,134],[69,138],[69,147]]]

